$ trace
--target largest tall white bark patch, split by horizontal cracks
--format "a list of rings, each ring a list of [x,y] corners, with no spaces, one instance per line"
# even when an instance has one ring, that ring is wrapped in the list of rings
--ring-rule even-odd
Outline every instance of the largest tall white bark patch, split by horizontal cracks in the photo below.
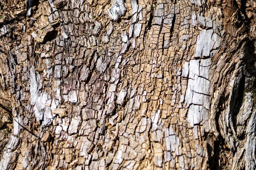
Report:
[[[191,127],[200,123],[204,124],[206,131],[209,130],[209,88],[210,81],[209,67],[211,59],[193,59],[189,65],[183,66],[182,76],[185,77],[189,72],[188,85],[185,95],[185,104],[189,107],[187,121]],[[188,67],[188,68],[187,68]],[[187,71],[189,70],[189,71]]]

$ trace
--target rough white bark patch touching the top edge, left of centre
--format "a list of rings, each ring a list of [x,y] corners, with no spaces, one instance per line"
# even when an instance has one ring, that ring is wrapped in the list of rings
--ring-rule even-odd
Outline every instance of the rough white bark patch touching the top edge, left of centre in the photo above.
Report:
[[[106,13],[111,20],[117,20],[120,16],[125,14],[125,5],[123,0],[112,0],[112,6],[107,9]]]

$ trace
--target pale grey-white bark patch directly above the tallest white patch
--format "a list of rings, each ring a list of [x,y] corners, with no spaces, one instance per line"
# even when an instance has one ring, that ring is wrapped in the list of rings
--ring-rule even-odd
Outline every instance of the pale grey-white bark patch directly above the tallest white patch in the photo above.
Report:
[[[197,39],[195,57],[208,57],[211,51],[212,44],[212,33],[213,30],[205,30],[203,29]]]

